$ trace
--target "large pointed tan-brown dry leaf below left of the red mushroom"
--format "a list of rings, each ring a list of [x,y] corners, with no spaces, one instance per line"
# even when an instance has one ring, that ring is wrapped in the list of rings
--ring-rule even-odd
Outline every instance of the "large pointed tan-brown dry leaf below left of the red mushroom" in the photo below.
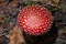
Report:
[[[8,35],[8,37],[10,40],[9,44],[23,44],[25,42],[23,33],[18,25],[14,26],[13,31]]]

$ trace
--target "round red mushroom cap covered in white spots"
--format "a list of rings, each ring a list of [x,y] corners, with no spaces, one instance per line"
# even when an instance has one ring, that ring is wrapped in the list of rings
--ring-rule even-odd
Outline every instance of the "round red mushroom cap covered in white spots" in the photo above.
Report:
[[[38,4],[24,7],[18,16],[21,29],[30,35],[42,35],[50,31],[53,20],[46,8]]]

